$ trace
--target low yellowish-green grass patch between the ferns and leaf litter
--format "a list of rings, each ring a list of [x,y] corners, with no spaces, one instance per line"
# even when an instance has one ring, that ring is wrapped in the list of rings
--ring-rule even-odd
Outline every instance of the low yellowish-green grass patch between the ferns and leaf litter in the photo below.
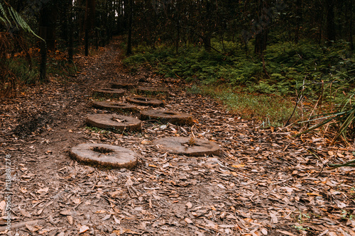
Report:
[[[295,104],[281,96],[250,94],[241,89],[227,86],[192,86],[187,89],[192,94],[212,96],[224,103],[231,113],[246,120],[258,120],[263,128],[283,126],[290,118]],[[297,111],[290,122],[299,118]]]

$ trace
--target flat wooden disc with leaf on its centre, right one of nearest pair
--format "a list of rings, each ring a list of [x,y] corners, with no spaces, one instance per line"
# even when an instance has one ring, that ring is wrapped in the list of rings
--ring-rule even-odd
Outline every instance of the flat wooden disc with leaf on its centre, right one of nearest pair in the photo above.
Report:
[[[173,154],[185,154],[187,156],[219,155],[219,146],[217,144],[200,138],[164,137],[154,140],[153,143],[160,145],[164,150]]]

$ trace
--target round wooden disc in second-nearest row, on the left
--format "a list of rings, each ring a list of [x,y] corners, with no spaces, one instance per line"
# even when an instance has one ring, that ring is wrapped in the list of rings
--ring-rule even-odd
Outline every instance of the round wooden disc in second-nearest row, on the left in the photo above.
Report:
[[[86,123],[97,128],[118,130],[141,130],[142,122],[131,116],[94,114],[87,116]]]

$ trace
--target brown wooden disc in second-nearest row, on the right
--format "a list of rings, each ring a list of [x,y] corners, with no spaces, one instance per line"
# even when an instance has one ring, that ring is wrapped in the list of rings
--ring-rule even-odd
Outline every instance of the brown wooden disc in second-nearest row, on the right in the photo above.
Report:
[[[158,120],[163,123],[173,123],[178,125],[193,125],[192,116],[187,113],[165,110],[141,111],[141,120]]]

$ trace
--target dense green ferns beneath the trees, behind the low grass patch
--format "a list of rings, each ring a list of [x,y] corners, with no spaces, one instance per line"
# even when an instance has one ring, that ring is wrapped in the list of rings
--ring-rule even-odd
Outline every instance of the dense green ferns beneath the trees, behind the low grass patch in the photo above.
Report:
[[[214,42],[217,50],[222,44]],[[332,85],[332,91],[340,86],[352,86],[350,74],[354,74],[354,57],[349,57],[348,45],[342,41],[332,47],[321,47],[312,42],[277,43],[265,51],[266,70],[257,56],[246,55],[231,42],[224,43],[225,52],[207,53],[200,47],[188,46],[178,55],[169,47],[149,50],[141,47],[136,55],[124,63],[136,68],[145,65],[165,77],[182,77],[187,81],[203,84],[227,83],[243,86],[245,91],[261,94],[293,95],[306,79],[305,95],[317,99],[321,87]],[[341,80],[342,83],[339,83]],[[346,82],[348,80],[348,82]],[[324,99],[339,99],[330,90],[322,91]],[[342,97],[342,96],[340,96]]]

